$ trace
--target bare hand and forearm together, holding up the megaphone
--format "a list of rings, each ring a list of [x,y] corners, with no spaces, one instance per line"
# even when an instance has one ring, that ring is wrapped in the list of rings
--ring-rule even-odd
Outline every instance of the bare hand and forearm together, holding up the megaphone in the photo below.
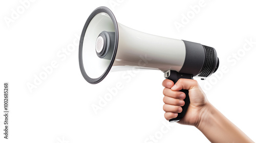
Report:
[[[164,80],[163,110],[166,120],[177,117],[185,104],[185,93],[188,90],[190,104],[185,116],[178,122],[198,128],[211,142],[253,142],[236,125],[231,123],[219,110],[207,100],[205,93],[196,80],[179,79],[176,84]]]

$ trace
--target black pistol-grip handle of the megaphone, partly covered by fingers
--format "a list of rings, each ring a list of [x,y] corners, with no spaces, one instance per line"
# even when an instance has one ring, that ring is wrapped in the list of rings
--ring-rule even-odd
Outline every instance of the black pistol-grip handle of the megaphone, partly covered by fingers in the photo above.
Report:
[[[168,73],[167,73],[168,72]],[[176,84],[176,82],[179,79],[193,79],[193,75],[190,74],[182,74],[182,73],[178,73],[175,70],[169,70],[165,73],[165,77],[169,80],[172,80],[174,82],[174,84]],[[167,74],[167,75],[166,75]],[[185,115],[187,108],[189,106],[190,100],[189,100],[189,96],[188,96],[188,90],[186,89],[182,89],[180,90],[182,92],[184,92],[186,94],[186,98],[184,99],[185,105],[182,106],[182,112],[178,113],[178,116],[175,118],[172,118],[169,120],[169,122],[178,122],[181,120],[181,118]]]

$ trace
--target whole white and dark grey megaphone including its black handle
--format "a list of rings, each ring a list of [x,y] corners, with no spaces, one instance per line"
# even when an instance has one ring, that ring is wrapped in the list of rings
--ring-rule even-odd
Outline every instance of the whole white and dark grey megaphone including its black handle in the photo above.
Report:
[[[210,46],[128,28],[117,22],[109,8],[99,7],[83,27],[79,66],[83,78],[91,84],[101,82],[112,66],[158,69],[165,78],[176,83],[180,78],[209,77],[218,69],[219,58]],[[188,90],[181,91],[186,94],[185,105],[169,122],[181,120],[190,103]]]

